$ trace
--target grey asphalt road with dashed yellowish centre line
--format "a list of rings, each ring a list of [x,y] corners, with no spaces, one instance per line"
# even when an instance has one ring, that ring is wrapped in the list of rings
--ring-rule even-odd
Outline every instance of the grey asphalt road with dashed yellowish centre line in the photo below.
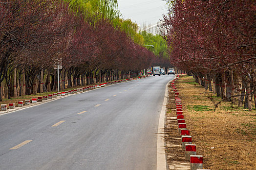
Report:
[[[150,76],[0,116],[0,170],[155,170],[173,78]]]

